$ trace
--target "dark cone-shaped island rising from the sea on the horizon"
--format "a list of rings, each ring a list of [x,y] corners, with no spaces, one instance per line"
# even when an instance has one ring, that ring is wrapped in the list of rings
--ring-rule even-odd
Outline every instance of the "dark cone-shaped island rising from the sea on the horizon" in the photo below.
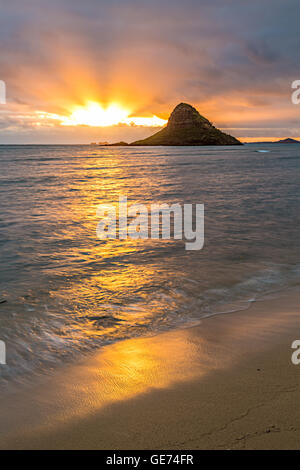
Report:
[[[181,103],[161,131],[131,145],[242,145],[235,137],[216,129],[193,106]]]

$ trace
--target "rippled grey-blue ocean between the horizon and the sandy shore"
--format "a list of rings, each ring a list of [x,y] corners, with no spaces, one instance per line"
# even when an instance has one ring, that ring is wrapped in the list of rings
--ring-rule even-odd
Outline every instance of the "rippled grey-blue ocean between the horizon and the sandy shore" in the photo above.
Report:
[[[298,145],[0,146],[0,164],[3,384],[300,287]],[[99,240],[120,195],[204,204],[204,248]]]

